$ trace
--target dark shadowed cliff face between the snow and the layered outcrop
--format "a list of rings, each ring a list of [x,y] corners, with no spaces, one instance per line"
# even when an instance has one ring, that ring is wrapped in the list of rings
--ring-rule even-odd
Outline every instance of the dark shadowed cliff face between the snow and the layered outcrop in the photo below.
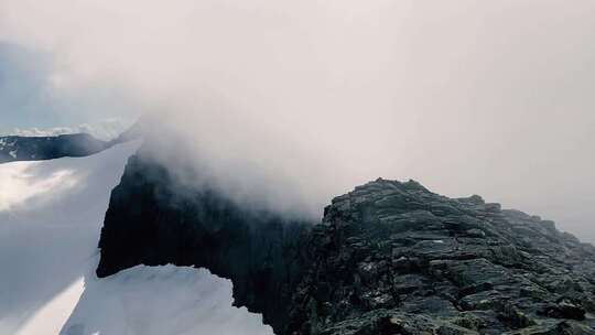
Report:
[[[305,269],[311,224],[241,208],[193,190],[139,153],[111,193],[101,229],[99,277],[140,263],[209,269],[231,279],[235,304],[280,329]]]

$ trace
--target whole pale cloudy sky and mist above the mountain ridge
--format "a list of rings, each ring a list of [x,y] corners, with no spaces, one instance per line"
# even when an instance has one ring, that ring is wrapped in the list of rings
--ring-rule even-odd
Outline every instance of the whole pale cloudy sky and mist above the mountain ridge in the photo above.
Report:
[[[320,213],[412,177],[594,241],[594,25],[581,0],[4,0],[0,114],[156,112],[239,194]]]

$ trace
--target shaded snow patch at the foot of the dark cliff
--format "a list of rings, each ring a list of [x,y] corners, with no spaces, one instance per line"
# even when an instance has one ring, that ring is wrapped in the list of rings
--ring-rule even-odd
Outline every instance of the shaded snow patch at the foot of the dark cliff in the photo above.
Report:
[[[62,335],[272,335],[262,316],[231,306],[231,282],[205,269],[138,266],[86,280]]]

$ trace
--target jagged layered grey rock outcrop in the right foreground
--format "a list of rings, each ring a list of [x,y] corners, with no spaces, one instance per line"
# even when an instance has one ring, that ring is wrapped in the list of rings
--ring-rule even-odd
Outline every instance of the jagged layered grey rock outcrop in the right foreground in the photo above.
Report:
[[[479,196],[377,180],[336,197],[289,333],[595,334],[595,248]]]

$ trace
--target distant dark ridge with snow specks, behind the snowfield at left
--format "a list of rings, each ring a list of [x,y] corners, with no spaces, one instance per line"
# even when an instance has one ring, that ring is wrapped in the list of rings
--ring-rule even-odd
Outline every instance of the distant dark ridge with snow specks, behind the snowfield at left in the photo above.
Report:
[[[85,156],[111,144],[87,133],[56,137],[0,137],[0,163],[52,160],[63,156]]]

